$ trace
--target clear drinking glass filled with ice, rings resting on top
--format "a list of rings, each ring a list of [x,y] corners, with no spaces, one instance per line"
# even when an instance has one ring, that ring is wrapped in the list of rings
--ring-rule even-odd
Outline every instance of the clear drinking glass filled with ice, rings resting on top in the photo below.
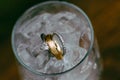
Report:
[[[45,35],[54,33],[63,39],[53,37],[60,44],[59,48],[65,48],[61,60],[51,54],[44,41]],[[14,26],[12,47],[21,64],[19,71],[23,80],[100,78],[102,67],[91,22],[71,3],[48,1],[28,9]]]

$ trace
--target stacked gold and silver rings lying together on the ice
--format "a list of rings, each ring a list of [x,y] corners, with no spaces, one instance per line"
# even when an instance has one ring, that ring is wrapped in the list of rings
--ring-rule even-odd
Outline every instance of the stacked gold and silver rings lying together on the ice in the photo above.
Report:
[[[58,40],[54,38],[58,38]],[[53,33],[53,35],[48,34],[45,36],[45,42],[49,47],[50,53],[52,53],[58,60],[63,58],[63,54],[65,53],[63,40],[60,35],[57,33]]]

